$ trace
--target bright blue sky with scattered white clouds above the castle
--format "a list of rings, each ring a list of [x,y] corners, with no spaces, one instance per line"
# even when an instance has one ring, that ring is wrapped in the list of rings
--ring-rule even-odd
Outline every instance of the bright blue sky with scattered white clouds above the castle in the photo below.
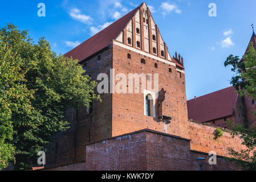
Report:
[[[57,53],[66,53],[97,31],[135,9],[143,1],[55,0],[3,1],[0,27],[7,22],[29,30],[35,42],[45,37]],[[145,1],[168,45],[169,52],[184,57],[186,96],[202,96],[230,86],[233,73],[224,67],[231,53],[242,56],[256,27],[254,0],[176,0]],[[46,16],[39,17],[38,3],[46,5]],[[216,3],[217,16],[208,7]]]

